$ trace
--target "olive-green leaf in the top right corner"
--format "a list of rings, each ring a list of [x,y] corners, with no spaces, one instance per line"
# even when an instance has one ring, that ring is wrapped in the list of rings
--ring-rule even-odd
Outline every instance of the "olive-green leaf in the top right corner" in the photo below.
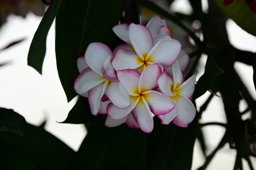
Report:
[[[227,6],[223,5],[223,0],[214,1],[237,25],[248,33],[256,36],[255,13],[250,10],[244,0],[234,0],[233,3]]]

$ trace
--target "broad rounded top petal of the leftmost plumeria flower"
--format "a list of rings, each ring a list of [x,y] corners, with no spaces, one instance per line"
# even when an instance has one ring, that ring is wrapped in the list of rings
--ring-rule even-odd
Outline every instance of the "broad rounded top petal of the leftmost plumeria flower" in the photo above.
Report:
[[[110,55],[113,56],[111,49],[107,45],[101,42],[92,42],[85,51],[85,60],[93,71],[102,75],[103,63]]]

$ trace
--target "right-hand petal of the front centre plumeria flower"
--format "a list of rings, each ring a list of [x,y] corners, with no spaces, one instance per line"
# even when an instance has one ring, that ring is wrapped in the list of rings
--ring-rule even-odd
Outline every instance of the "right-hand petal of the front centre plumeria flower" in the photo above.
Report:
[[[163,115],[169,113],[175,108],[175,102],[165,94],[158,91],[147,91],[143,96],[154,115]]]

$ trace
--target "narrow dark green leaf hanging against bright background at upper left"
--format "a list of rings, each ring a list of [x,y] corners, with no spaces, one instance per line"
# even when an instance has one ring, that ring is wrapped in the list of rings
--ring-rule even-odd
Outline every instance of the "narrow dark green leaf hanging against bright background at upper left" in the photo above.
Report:
[[[35,68],[40,74],[42,74],[47,34],[58,11],[60,1],[54,0],[48,7],[29,48],[28,65]]]

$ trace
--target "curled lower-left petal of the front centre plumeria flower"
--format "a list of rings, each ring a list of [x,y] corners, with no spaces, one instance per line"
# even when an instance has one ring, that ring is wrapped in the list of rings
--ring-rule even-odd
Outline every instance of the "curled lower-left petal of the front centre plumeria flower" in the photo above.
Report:
[[[116,106],[114,106],[113,103],[110,103],[107,107],[108,116],[111,116],[113,119],[122,119],[123,117],[128,115],[139,102],[140,96],[130,96],[130,99],[131,105],[126,109],[116,108]]]

